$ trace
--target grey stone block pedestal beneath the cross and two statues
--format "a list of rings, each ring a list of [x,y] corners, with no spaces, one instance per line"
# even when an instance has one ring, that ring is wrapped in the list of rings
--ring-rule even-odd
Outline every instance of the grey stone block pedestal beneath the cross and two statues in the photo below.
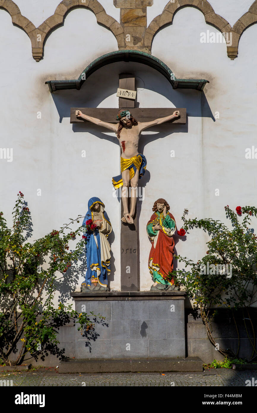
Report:
[[[93,334],[76,330],[76,359],[185,357],[184,291],[73,292],[81,313],[101,314]],[[91,318],[92,319],[92,318]]]

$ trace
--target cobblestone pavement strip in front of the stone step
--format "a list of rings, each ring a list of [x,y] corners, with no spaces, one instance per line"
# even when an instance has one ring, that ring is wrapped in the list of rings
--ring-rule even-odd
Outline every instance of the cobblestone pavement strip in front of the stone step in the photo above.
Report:
[[[203,373],[58,373],[56,368],[0,373],[13,386],[240,386],[257,370],[212,369]],[[9,382],[10,383],[10,382]]]

